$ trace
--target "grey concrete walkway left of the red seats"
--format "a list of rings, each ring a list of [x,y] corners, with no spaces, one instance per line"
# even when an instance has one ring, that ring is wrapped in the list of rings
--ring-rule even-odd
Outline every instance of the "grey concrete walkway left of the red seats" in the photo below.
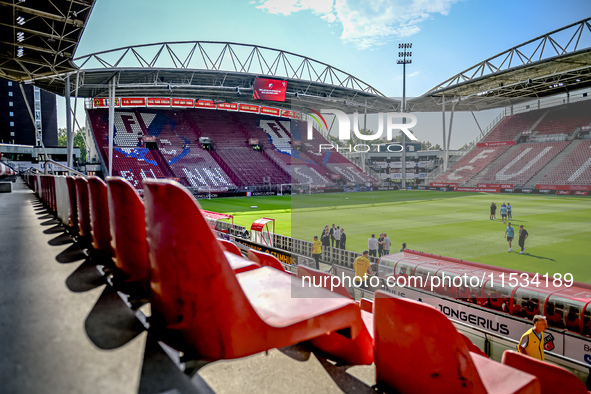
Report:
[[[67,253],[69,236],[22,180],[13,186],[0,194],[0,392],[138,392],[146,334],[114,350],[91,341],[105,286],[79,286],[84,256]]]

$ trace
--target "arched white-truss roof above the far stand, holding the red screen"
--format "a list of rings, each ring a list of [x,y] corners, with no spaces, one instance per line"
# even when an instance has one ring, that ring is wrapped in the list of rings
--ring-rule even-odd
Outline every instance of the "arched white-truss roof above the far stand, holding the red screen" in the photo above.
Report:
[[[108,96],[116,81],[118,97],[172,97],[254,103],[256,77],[286,80],[283,109],[334,108],[351,113],[397,111],[400,101],[326,63],[257,45],[183,41],[146,44],[74,59],[79,97]],[[63,92],[64,74],[44,77],[45,86]],[[41,80],[36,81],[41,82]],[[72,76],[71,83],[75,84]],[[75,85],[71,91],[75,91]],[[260,104],[260,101],[258,101]]]

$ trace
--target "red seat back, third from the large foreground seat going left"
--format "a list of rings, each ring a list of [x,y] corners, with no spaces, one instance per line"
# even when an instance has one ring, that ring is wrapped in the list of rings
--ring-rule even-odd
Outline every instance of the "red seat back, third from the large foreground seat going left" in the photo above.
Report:
[[[111,229],[109,225],[109,196],[107,184],[102,179],[91,176],[88,178],[90,195],[90,233],[92,247],[111,255]]]

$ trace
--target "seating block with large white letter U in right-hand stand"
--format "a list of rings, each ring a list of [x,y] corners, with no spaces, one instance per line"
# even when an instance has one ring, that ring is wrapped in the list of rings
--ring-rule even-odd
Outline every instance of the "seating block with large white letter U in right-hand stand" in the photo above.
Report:
[[[517,145],[504,160],[490,166],[480,182],[524,185],[568,144],[569,141]]]

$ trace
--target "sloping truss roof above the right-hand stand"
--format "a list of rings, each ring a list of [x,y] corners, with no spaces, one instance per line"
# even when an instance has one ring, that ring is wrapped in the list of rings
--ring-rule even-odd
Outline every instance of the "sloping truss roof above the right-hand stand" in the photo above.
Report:
[[[410,111],[498,108],[591,87],[591,18],[490,57],[409,100]],[[449,108],[449,107],[448,107]]]

